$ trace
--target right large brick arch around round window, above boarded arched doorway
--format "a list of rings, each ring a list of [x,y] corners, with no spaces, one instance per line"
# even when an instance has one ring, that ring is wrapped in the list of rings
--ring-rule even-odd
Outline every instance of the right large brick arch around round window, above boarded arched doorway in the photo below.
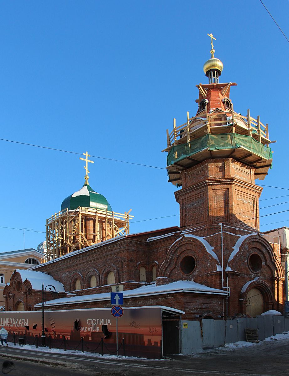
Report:
[[[237,244],[237,242],[228,259],[227,266],[231,267],[232,270],[238,271],[239,265],[244,264],[244,259],[248,262],[249,255],[256,253],[261,257],[262,262],[271,269],[272,277],[284,277],[281,263],[275,258],[273,249],[266,239],[259,234],[252,234],[244,238],[240,244]]]

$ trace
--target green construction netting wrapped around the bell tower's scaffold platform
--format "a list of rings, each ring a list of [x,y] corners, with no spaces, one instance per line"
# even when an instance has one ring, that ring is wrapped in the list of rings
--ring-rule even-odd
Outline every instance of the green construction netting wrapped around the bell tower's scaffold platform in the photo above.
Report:
[[[187,156],[193,156],[202,150],[213,151],[240,147],[264,159],[272,158],[271,148],[259,143],[251,136],[239,135],[238,133],[208,134],[187,144],[173,146],[167,156],[167,166],[179,162]]]

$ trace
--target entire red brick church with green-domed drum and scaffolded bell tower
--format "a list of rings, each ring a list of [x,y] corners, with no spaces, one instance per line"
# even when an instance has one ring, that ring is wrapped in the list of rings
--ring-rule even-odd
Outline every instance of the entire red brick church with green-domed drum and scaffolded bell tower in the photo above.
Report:
[[[124,306],[169,306],[186,320],[256,317],[283,312],[286,227],[259,231],[259,197],[272,164],[268,124],[234,111],[230,89],[220,83],[222,62],[204,64],[208,83],[196,85],[196,115],[167,130],[167,171],[180,225],[129,233],[129,211],[120,214],[85,184],[47,220],[47,262],[16,270],[4,289],[6,311],[103,308],[110,292]],[[280,234],[282,236],[280,236]],[[282,261],[282,265],[281,265]],[[49,300],[49,301],[48,301]]]

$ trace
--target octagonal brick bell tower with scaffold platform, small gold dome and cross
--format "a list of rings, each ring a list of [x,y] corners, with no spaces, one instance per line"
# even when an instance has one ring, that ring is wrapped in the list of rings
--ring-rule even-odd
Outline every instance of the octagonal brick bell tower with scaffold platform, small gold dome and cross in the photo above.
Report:
[[[180,226],[212,226],[220,222],[259,229],[259,197],[272,165],[268,124],[233,109],[230,89],[236,83],[219,83],[223,70],[214,57],[204,64],[208,84],[196,85],[199,97],[194,117],[167,130],[167,171],[180,206]]]

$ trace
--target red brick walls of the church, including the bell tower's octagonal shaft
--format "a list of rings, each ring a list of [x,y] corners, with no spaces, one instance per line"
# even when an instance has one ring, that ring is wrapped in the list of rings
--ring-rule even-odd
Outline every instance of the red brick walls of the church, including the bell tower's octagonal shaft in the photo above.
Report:
[[[208,91],[209,110],[216,108],[218,100],[222,103],[222,98],[219,89]],[[210,98],[214,99],[211,107]],[[224,110],[224,105],[219,108]],[[49,273],[67,293],[78,296],[108,293],[115,285],[125,291],[149,284],[154,287],[155,275],[156,287],[167,286],[168,290],[127,297],[124,306],[170,306],[183,310],[189,320],[255,312],[252,291],[259,294],[259,309],[282,312],[284,270],[279,248],[274,245],[273,249],[258,232],[262,188],[255,184],[255,168],[230,157],[218,157],[205,159],[180,174],[182,188],[175,193],[180,227],[104,241],[33,270]],[[112,275],[114,283],[110,282]],[[179,280],[202,286],[169,291],[170,283]],[[41,302],[41,292],[33,291],[30,282],[22,281],[17,272],[4,295],[7,311],[17,310],[20,301],[26,310]],[[47,294],[47,300],[51,299]],[[61,305],[54,302],[49,308],[110,306],[108,297],[100,300],[97,295],[77,304],[69,299]]]

